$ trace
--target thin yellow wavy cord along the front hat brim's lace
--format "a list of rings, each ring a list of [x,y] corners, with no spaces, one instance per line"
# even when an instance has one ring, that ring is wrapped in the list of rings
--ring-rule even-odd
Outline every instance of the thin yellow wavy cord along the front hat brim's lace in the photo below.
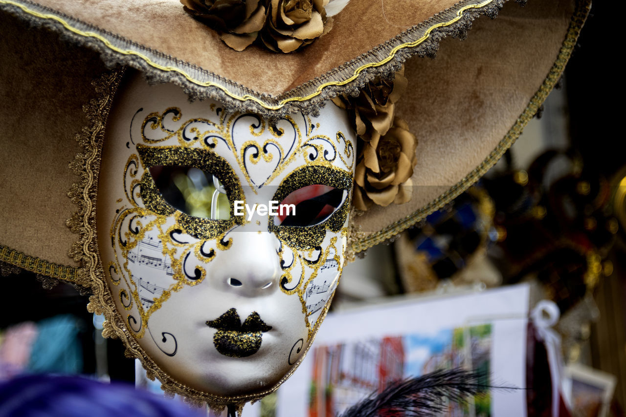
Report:
[[[309,94],[309,96],[305,96],[305,97],[292,97],[292,98],[287,98],[284,99],[283,101],[280,101],[280,103],[277,106],[269,106],[268,104],[263,103],[262,101],[260,101],[259,99],[255,98],[254,96],[250,96],[250,94],[245,94],[245,96],[237,96],[237,94],[233,94],[230,93],[230,91],[227,90],[227,88],[225,88],[224,86],[221,86],[219,84],[215,84],[215,83],[211,83],[210,81],[198,81],[195,78],[192,78],[192,76],[190,76],[189,74],[185,73],[185,71],[182,71],[181,69],[172,67],[172,66],[162,66],[160,64],[157,64],[153,61],[151,61],[150,58],[148,58],[147,56],[145,56],[144,54],[138,53],[136,51],[131,51],[130,49],[120,49],[117,48],[116,46],[114,46],[113,44],[110,43],[110,41],[108,41],[108,39],[104,38],[103,36],[97,34],[97,33],[93,33],[93,32],[83,32],[80,31],[76,28],[73,28],[72,26],[70,26],[70,24],[66,21],[64,21],[63,19],[59,18],[58,16],[54,16],[53,14],[41,14],[38,13],[34,10],[31,10],[29,8],[27,8],[26,6],[23,6],[22,4],[16,3],[12,0],[0,0],[0,4],[11,4],[13,6],[16,6],[17,8],[21,9],[24,13],[28,13],[31,14],[32,16],[35,16],[36,18],[41,18],[41,19],[50,19],[53,21],[56,21],[58,23],[60,23],[61,25],[63,25],[63,27],[65,29],[68,29],[68,31],[70,31],[71,33],[75,33],[78,34],[80,36],[85,36],[85,38],[94,38],[94,39],[98,39],[99,41],[101,41],[103,44],[105,44],[105,46],[113,51],[115,51],[116,53],[120,53],[123,55],[134,55],[137,56],[138,58],[143,59],[144,61],[146,61],[146,63],[148,65],[150,65],[153,68],[156,69],[160,69],[161,71],[173,71],[175,73],[181,74],[183,77],[185,77],[185,79],[187,79],[187,81],[189,81],[190,83],[196,84],[198,86],[201,87],[215,87],[218,88],[220,90],[223,91],[224,94],[226,94],[228,97],[238,100],[238,101],[254,101],[255,103],[258,103],[260,106],[262,106],[262,108],[265,109],[269,109],[269,110],[278,110],[281,109],[285,106],[285,104],[290,103],[291,101],[308,101],[314,97],[319,96],[320,94],[322,94],[322,90],[328,86],[344,86],[346,84],[351,83],[352,81],[354,81],[359,74],[361,74],[365,69],[367,68],[376,68],[379,66],[382,66],[386,63],[388,63],[389,61],[391,61],[391,59],[394,58],[394,56],[396,56],[396,54],[398,53],[398,51],[400,51],[401,49],[404,48],[414,48],[416,46],[418,46],[419,44],[423,43],[424,41],[426,41],[426,39],[428,39],[431,36],[431,32],[434,29],[437,28],[444,28],[447,26],[450,26],[451,24],[454,24],[456,22],[459,21],[459,19],[461,19],[463,17],[463,13],[469,9],[480,9],[483,8],[485,6],[487,6],[490,3],[493,3],[494,0],[486,0],[483,1],[483,3],[480,4],[470,4],[469,6],[464,6],[463,8],[459,9],[459,11],[456,12],[456,18],[451,19],[447,22],[442,22],[442,23],[438,23],[438,24],[434,24],[433,26],[431,26],[430,28],[428,28],[426,30],[426,33],[424,33],[424,36],[422,36],[421,38],[417,39],[416,41],[413,42],[409,42],[409,43],[404,43],[401,45],[396,46],[396,48],[392,49],[391,52],[389,52],[389,56],[387,56],[387,58],[383,59],[382,61],[379,61],[377,63],[369,63],[369,64],[365,64],[359,68],[356,69],[356,71],[354,71],[354,74],[350,77],[345,79],[344,81],[330,81],[329,83],[325,83],[325,84],[321,84],[321,86],[317,87],[316,92]]]

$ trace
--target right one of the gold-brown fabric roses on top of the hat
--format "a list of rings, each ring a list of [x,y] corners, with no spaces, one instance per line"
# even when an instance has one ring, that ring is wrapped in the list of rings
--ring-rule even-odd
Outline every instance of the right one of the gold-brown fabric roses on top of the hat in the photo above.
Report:
[[[324,10],[328,1],[270,0],[261,33],[265,46],[272,51],[289,53],[330,31],[331,18],[327,18]]]

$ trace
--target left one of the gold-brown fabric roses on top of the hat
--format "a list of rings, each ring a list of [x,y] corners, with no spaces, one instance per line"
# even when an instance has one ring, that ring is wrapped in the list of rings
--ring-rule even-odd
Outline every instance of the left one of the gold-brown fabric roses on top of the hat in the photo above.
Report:
[[[250,46],[265,23],[265,1],[180,0],[180,3],[187,13],[217,31],[220,39],[236,51]]]

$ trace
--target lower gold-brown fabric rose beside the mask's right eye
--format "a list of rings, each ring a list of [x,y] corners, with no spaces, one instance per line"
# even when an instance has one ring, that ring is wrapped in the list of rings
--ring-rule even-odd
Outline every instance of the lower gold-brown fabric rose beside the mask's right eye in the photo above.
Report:
[[[384,135],[363,141],[354,173],[354,206],[367,210],[372,204],[388,206],[409,201],[417,146],[418,140],[409,132],[406,121],[397,117]]]

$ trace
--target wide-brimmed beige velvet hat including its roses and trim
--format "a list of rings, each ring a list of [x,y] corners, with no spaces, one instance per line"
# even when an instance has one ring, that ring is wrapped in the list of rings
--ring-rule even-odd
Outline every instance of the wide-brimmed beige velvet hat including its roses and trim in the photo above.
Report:
[[[99,150],[88,144],[101,143],[123,68],[270,119],[317,114],[331,100],[346,108],[365,143],[355,254],[441,208],[498,161],[557,83],[590,8],[585,0],[218,3],[0,0],[4,268],[95,285]],[[384,159],[377,144],[394,129],[412,139],[398,133]]]

